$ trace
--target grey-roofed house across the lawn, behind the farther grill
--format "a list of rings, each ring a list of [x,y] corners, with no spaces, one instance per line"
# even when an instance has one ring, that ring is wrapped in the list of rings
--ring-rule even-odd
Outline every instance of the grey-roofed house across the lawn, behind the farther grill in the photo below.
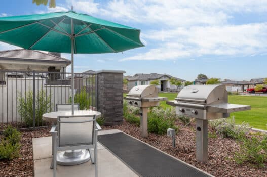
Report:
[[[128,80],[127,90],[130,91],[132,89],[132,87],[134,87],[136,85],[148,85],[153,80],[159,80],[160,84],[157,85],[159,91],[161,91],[161,92],[179,92],[183,88],[183,86],[180,86],[177,89],[176,85],[172,85],[170,83],[170,78],[175,78],[175,79],[181,81],[182,83],[185,82],[184,79],[173,77],[169,74],[138,73],[138,74],[135,74],[133,77],[130,77],[127,79]]]

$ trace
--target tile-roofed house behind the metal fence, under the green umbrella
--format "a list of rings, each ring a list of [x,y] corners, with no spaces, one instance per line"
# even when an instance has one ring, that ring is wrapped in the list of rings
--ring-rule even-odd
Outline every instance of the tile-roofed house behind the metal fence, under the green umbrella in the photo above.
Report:
[[[66,67],[71,64],[70,60],[60,57],[60,53],[45,53],[35,50],[16,49],[0,51],[0,84],[5,84],[5,77],[26,77],[26,74],[18,75],[10,71],[48,71],[58,72],[42,74],[40,77],[47,77],[50,83],[59,84],[66,79]],[[65,80],[66,81],[66,80]],[[56,82],[56,83],[55,83]],[[61,83],[64,84],[64,83]],[[65,83],[69,84],[69,82]]]

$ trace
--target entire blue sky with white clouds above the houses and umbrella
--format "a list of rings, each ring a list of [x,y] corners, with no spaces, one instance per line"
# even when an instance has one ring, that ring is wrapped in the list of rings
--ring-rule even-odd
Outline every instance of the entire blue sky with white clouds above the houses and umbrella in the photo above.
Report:
[[[267,77],[267,1],[56,0],[54,9],[31,2],[2,0],[0,16],[66,11],[73,5],[77,12],[141,29],[145,47],[123,54],[77,54],[74,72],[116,69],[186,80],[199,73],[233,80]],[[0,42],[0,50],[15,48]]]

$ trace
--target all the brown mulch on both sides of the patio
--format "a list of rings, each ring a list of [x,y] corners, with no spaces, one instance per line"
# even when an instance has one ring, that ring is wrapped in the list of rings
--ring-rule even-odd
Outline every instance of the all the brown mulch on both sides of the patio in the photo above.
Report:
[[[123,122],[116,126],[103,126],[105,129],[120,129],[166,153],[171,154],[214,176],[267,176],[266,168],[256,168],[249,164],[238,165],[233,156],[239,146],[230,138],[209,138],[209,161],[199,163],[195,158],[195,124],[184,127],[180,122],[176,132],[176,148],[172,148],[171,138],[167,135],[149,134],[148,138],[140,137],[139,128]],[[32,138],[50,136],[50,128],[21,131],[21,156],[12,161],[0,160],[0,176],[33,176]],[[1,135],[0,135],[1,137]],[[266,164],[267,166],[267,164]]]

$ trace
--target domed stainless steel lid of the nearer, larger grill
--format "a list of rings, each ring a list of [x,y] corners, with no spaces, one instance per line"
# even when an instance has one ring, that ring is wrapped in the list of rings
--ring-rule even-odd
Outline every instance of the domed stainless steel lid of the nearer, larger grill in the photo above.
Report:
[[[227,103],[225,85],[188,85],[185,86],[175,99],[179,102],[196,104]]]

